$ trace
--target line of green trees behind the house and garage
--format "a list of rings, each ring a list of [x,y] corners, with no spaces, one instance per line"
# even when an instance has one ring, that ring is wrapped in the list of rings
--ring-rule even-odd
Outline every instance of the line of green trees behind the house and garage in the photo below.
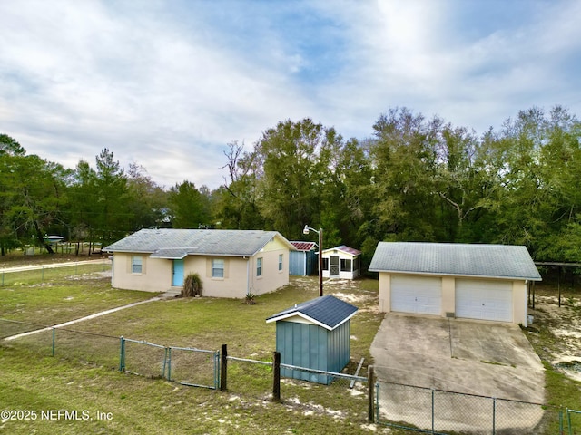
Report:
[[[478,135],[392,108],[369,137],[345,140],[309,118],[281,121],[247,149],[224,151],[218,189],[163,189],[103,149],[74,169],[0,135],[0,248],[45,234],[103,244],[143,227],[274,229],[324,247],[380,240],[525,245],[538,261],[581,261],[581,123],[533,107]],[[47,247],[50,249],[50,246]]]

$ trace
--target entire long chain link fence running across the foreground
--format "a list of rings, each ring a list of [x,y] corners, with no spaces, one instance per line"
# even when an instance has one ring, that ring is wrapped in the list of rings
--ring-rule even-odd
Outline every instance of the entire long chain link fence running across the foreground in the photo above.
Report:
[[[539,403],[395,382],[369,384],[363,376],[282,364],[280,354],[277,363],[277,353],[273,353],[272,361],[256,361],[227,355],[225,345],[221,354],[5,319],[0,319],[0,337],[9,338],[7,345],[38,355],[183,385],[220,388],[241,400],[281,401],[305,414],[373,420],[375,411],[375,422],[379,424],[432,434],[581,433],[581,411],[567,409],[564,415],[557,408]],[[371,367],[367,370],[372,378]],[[369,387],[375,388],[374,396]]]

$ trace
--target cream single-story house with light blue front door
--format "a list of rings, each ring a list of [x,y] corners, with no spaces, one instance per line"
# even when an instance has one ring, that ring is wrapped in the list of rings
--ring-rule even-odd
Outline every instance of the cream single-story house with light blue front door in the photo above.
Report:
[[[113,252],[112,285],[161,292],[202,278],[202,295],[243,298],[289,284],[289,252],[277,231],[142,229],[103,250]]]

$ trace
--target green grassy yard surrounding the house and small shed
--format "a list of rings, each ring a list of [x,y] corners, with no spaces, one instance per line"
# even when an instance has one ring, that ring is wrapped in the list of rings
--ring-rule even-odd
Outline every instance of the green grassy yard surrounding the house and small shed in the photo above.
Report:
[[[87,266],[88,267],[88,266]],[[58,324],[113,306],[130,304],[153,294],[114,290],[102,270],[77,275],[54,272],[49,280],[26,281],[25,275],[0,287],[0,318]],[[59,275],[62,274],[62,275]],[[378,283],[326,283],[325,293],[359,307],[351,320],[351,362],[372,363],[369,347],[383,314],[378,312]],[[556,367],[564,355],[579,356],[576,327],[579,299],[566,294],[567,305],[555,308],[554,289],[537,287],[535,322],[524,331],[547,367],[547,404],[581,409],[580,383]],[[190,388],[162,379],[118,372],[118,338],[162,345],[218,350],[271,361],[275,325],[265,319],[293,304],[318,295],[314,277],[292,278],[281,291],[256,298],[257,304],[215,298],[175,298],[150,302],[70,326],[87,335],[56,332],[55,356],[51,333],[39,333],[0,343],[0,410],[78,411],[81,420],[0,420],[7,433],[409,433],[366,422],[366,397],[357,388],[332,388],[293,382],[281,385],[283,403],[268,401],[271,372],[265,366],[232,362],[228,392]],[[544,299],[545,298],[545,299]],[[0,322],[0,328],[5,323]],[[0,336],[7,335],[0,329]],[[580,358],[581,359],[581,358]],[[135,362],[133,359],[131,362]],[[176,360],[177,361],[177,360]],[[251,370],[249,370],[251,369]],[[229,372],[230,372],[229,370]],[[360,373],[365,375],[365,370]],[[88,412],[88,420],[83,420]],[[101,413],[99,413],[101,412]],[[58,414],[50,414],[52,417]],[[111,419],[109,419],[111,417]],[[581,416],[580,416],[581,417]],[[574,420],[581,420],[575,419]],[[555,427],[554,427],[555,428]],[[553,432],[551,432],[553,433]]]

